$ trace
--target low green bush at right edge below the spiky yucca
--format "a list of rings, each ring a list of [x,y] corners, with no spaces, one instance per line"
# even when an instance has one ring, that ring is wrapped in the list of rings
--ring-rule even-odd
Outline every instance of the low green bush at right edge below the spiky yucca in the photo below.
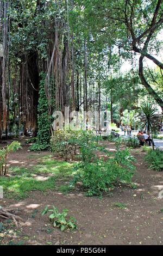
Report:
[[[150,164],[149,168],[160,172],[163,170],[163,151],[160,149],[148,150],[144,159]]]

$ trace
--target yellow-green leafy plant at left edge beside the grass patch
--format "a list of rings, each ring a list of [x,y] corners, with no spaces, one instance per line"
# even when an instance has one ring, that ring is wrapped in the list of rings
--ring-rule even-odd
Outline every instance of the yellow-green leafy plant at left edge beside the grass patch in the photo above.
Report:
[[[7,175],[7,157],[10,152],[14,152],[22,148],[18,141],[13,141],[11,144],[7,145],[6,148],[0,148],[0,176]]]

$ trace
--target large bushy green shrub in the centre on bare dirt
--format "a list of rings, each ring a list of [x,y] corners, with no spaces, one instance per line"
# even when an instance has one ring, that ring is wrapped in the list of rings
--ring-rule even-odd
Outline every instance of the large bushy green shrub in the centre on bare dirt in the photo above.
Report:
[[[132,162],[134,157],[130,155],[129,150],[120,150],[117,147],[116,153],[107,153],[109,159],[98,159],[93,153],[95,148],[81,148],[82,161],[76,164],[74,170],[77,174],[71,181],[71,186],[77,182],[82,182],[86,188],[86,196],[101,196],[102,191],[110,191],[118,181],[131,184],[131,178],[134,175],[135,167]],[[83,154],[84,153],[84,154]]]

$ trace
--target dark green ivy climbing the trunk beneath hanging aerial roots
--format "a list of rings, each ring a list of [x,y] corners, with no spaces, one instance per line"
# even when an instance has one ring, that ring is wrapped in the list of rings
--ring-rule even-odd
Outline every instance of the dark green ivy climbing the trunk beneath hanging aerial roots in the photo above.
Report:
[[[48,114],[48,100],[45,95],[45,75],[41,74],[42,80],[40,81],[39,90],[39,105],[37,110],[39,112],[38,118],[38,132],[36,143],[34,143],[29,149],[31,151],[41,151],[49,148],[50,146],[50,126],[51,121],[49,120]]]

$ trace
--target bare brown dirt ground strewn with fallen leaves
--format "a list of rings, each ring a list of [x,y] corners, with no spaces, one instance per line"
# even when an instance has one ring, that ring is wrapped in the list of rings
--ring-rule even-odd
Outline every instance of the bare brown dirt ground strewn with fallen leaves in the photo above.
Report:
[[[21,142],[23,149],[9,156],[9,164],[26,167],[37,164],[37,157],[27,157],[29,145],[24,144],[24,139]],[[108,150],[115,150],[113,143],[104,141],[103,144]],[[5,143],[0,147],[2,145]],[[3,221],[7,232],[1,233],[0,226],[0,244],[162,245],[163,212],[160,210],[163,208],[163,198],[158,196],[163,189],[163,172],[148,169],[141,148],[131,151],[137,159],[137,173],[133,177],[136,189],[119,184],[112,190],[112,196],[104,194],[103,198],[85,197],[82,190],[76,190],[67,194],[31,191],[24,200],[0,199],[1,206],[13,209],[24,220],[18,227],[13,222]],[[40,153],[47,154],[48,151]],[[118,208],[114,205],[118,202],[126,206]],[[48,217],[40,213],[47,205],[55,205],[60,211],[67,208],[67,216],[76,217],[78,229],[54,229]]]

